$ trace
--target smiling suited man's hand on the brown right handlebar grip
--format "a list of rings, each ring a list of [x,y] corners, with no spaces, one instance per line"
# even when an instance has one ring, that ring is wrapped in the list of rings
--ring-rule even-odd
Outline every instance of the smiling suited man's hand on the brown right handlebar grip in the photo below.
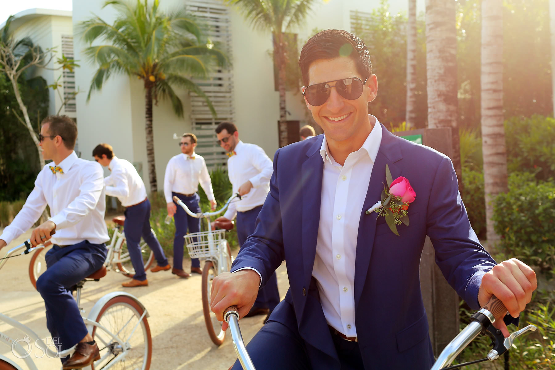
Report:
[[[478,302],[483,306],[492,296],[499,298],[512,317],[524,311],[532,300],[532,292],[538,287],[536,273],[531,267],[517,259],[503,261],[486,272],[478,291]],[[494,326],[505,337],[509,331],[503,320],[496,320]]]

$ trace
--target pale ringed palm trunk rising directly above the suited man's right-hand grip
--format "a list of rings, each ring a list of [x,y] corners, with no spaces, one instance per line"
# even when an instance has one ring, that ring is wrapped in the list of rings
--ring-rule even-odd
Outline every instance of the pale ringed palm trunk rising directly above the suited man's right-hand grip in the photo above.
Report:
[[[486,231],[491,245],[499,240],[493,229],[492,200],[508,188],[503,126],[503,0],[482,0],[481,88]]]

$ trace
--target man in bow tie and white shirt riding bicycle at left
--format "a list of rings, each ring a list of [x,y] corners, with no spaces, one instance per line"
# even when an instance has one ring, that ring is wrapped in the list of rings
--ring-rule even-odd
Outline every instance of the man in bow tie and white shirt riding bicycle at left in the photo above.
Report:
[[[99,349],[87,331],[70,287],[102,267],[108,230],[104,222],[105,196],[102,167],[77,157],[73,151],[77,125],[68,116],[42,121],[39,141],[44,166],[23,208],[0,235],[0,249],[33,226],[48,205],[48,221],[36,227],[31,244],[49,244],[47,270],[37,280],[46,306],[47,327],[59,338],[60,350],[77,344],[64,369],[80,369],[99,358]],[[52,236],[53,234],[56,234]],[[65,361],[64,361],[65,360]]]

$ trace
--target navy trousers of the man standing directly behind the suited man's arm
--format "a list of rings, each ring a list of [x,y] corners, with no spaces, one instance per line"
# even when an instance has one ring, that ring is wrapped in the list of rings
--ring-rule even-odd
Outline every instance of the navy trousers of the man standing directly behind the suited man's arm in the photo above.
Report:
[[[253,234],[256,217],[258,217],[261,209],[262,206],[258,206],[245,212],[237,212],[237,239],[239,239],[239,245],[243,245],[246,239]],[[268,282],[266,282],[266,285],[258,291],[258,296],[253,307],[269,308],[271,312],[278,306],[278,303],[278,277],[274,272],[268,279]]]

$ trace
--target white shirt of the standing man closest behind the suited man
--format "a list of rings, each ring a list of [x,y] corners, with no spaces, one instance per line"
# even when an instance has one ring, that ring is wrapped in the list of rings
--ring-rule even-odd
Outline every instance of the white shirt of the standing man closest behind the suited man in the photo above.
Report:
[[[264,204],[270,192],[270,178],[274,167],[264,149],[255,144],[245,144],[239,140],[235,146],[235,154],[228,159],[228,176],[233,194],[239,187],[250,181],[253,188],[240,201],[234,200],[229,204],[224,217],[233,220],[237,212],[245,212]]]

